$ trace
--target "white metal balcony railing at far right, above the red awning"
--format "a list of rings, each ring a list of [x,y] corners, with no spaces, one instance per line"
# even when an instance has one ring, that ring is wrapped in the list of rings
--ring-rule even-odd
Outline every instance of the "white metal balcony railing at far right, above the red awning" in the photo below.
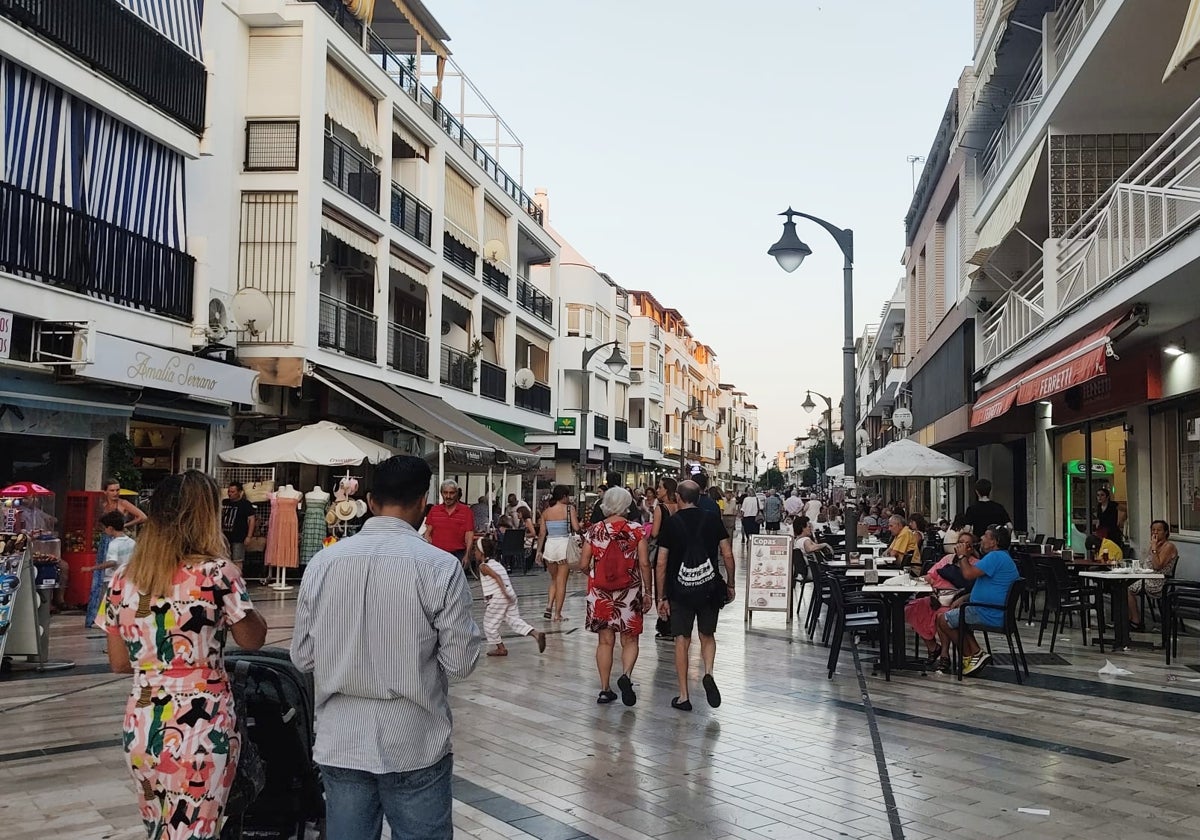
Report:
[[[1064,233],[1058,305],[1079,300],[1200,221],[1200,100]]]

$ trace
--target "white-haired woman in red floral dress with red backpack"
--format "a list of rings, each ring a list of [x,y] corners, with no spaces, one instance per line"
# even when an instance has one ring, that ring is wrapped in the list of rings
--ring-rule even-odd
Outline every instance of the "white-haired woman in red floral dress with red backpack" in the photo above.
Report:
[[[617,700],[612,677],[613,648],[620,636],[620,702],[637,702],[630,673],[637,662],[637,637],[642,617],[650,608],[650,560],[646,532],[625,518],[632,497],[624,487],[610,487],[600,499],[605,518],[593,524],[583,540],[580,569],[588,576],[587,628],[598,635],[596,670],[600,672],[598,703]]]

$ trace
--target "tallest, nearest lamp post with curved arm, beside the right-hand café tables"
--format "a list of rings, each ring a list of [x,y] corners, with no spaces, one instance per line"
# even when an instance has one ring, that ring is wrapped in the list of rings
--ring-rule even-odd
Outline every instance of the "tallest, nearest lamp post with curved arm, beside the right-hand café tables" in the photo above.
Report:
[[[834,241],[838,242],[838,247],[841,248],[841,254],[844,257],[841,277],[842,277],[842,295],[845,298],[845,341],[842,343],[842,397],[841,397],[841,445],[845,458],[846,478],[851,482],[854,480],[854,436],[851,430],[858,428],[858,402],[854,400],[854,232],[850,229],[842,229],[830,224],[823,218],[817,218],[816,216],[810,216],[806,212],[797,212],[791,208],[786,211],[779,214],[785,216],[784,222],[784,235],[779,238],[779,241],[772,245],[767,253],[775,258],[779,263],[779,268],[784,271],[792,272],[800,268],[800,263],[804,258],[812,253],[812,248],[800,241],[800,238],[796,235],[796,222],[792,221],[793,217],[799,216],[800,218],[806,218],[810,222],[815,222],[824,228]],[[818,395],[820,396],[820,395]],[[830,421],[833,419],[833,402],[829,403]],[[833,424],[830,422],[830,439],[833,438]],[[828,444],[827,444],[828,445]],[[857,545],[857,542],[851,542],[851,540],[858,539],[858,509],[854,504],[846,505],[846,547],[847,550]]]

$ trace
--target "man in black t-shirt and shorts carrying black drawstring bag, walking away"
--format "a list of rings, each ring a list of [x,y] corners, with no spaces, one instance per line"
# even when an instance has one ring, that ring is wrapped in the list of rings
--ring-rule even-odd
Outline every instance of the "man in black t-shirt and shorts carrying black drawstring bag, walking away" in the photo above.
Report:
[[[714,589],[724,586],[725,599],[733,600],[733,547],[730,536],[721,524],[720,516],[713,516],[696,506],[700,500],[700,485],[695,481],[680,481],[677,490],[679,510],[662,526],[659,534],[659,564],[655,570],[659,598],[659,614],[671,619],[671,635],[676,640],[676,676],[679,680],[679,696],[671,701],[671,707],[680,712],[691,712],[688,698],[688,654],[691,647],[691,630],[700,630],[700,658],[704,664],[704,676],[701,684],[708,704],[721,704],[721,692],[713,679],[713,661],[716,659],[716,618],[721,607],[719,600],[704,604],[692,604],[680,598],[677,580],[679,568],[688,554],[688,546],[698,542],[712,562],[714,569],[725,565],[725,577],[720,574],[714,582]],[[716,593],[714,593],[716,594]]]

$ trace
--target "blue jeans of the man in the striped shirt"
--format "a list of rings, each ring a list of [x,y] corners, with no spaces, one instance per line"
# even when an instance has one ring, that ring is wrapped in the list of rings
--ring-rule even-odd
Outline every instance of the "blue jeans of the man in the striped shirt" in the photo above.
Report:
[[[454,755],[406,773],[367,773],[322,764],[328,840],[378,840],[388,815],[392,840],[452,840]]]

